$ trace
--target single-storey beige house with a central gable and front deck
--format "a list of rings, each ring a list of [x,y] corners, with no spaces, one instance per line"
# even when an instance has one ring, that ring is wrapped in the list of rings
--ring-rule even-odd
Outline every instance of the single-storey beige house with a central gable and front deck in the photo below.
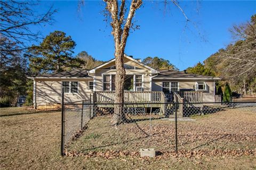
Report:
[[[214,102],[217,77],[194,75],[180,71],[157,71],[134,59],[124,56],[125,103],[157,103],[174,100],[186,102]],[[62,90],[65,102],[90,100],[94,103],[114,103],[115,58],[91,70],[71,70],[30,77],[34,80],[34,106],[55,107],[61,103]],[[175,98],[178,97],[178,98]],[[155,104],[155,105],[153,105]]]

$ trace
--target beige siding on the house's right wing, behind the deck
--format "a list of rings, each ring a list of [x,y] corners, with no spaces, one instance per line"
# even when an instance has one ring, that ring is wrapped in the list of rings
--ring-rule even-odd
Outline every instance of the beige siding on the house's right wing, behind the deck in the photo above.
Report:
[[[179,82],[179,89],[193,89],[197,81],[203,80],[154,80],[152,82],[152,91],[162,91],[162,82]],[[207,85],[207,91],[203,91],[203,102],[214,102],[214,81],[204,80]]]

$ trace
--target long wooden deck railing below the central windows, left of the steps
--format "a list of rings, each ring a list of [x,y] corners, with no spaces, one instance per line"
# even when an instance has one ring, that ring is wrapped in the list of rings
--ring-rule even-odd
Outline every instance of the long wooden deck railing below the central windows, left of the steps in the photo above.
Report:
[[[114,103],[115,91],[95,91],[95,103]],[[124,103],[165,103],[163,91],[125,91]]]

